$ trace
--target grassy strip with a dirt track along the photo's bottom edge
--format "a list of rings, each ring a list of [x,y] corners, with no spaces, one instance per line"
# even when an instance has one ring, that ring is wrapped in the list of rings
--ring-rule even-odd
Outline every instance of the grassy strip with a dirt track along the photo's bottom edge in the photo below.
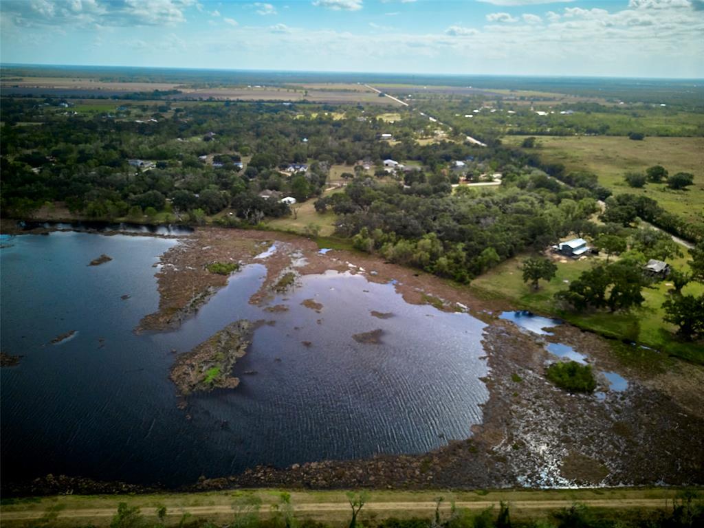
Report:
[[[156,509],[166,508],[166,526],[178,526],[197,519],[232,522],[237,512],[248,512],[247,504],[258,503],[259,515],[275,514],[282,505],[284,490],[258,489],[216,491],[191,494],[150,494],[123,496],[50,496],[42,498],[4,499],[0,518],[3,526],[75,527],[88,523],[108,526],[120,502],[137,506],[145,520],[156,522]],[[582,503],[598,510],[647,512],[672,508],[678,489],[574,489],[574,490],[501,490],[501,491],[370,491],[358,522],[374,526],[389,518],[420,517],[432,519],[437,498],[442,497],[440,514],[450,515],[452,504],[476,514],[486,508],[498,511],[500,501],[507,502],[515,519],[550,517],[560,508]],[[350,507],[344,491],[290,491],[294,517],[326,522],[331,526],[346,526]],[[242,515],[242,514],[240,514]]]

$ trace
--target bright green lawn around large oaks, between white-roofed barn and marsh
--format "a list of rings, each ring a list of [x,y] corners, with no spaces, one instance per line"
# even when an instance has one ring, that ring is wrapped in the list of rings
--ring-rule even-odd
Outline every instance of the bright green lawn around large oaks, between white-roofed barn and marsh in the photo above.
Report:
[[[688,268],[686,264],[688,259],[689,255],[685,254],[683,258],[671,260],[670,263],[673,268],[684,270]],[[584,270],[591,268],[594,259],[568,260],[567,263],[555,261],[558,272],[550,282],[541,281],[538,291],[533,291],[529,284],[523,282],[522,272],[519,269],[521,260],[520,257],[506,260],[485,275],[474,279],[470,289],[482,298],[505,298],[519,308],[557,315],[573,325],[598,334],[635,341],[665,351],[672,356],[704,364],[704,349],[701,344],[678,341],[674,337],[677,328],[662,320],[665,315],[662,303],[671,288],[667,286],[667,281],[658,282],[652,288],[644,288],[643,297],[646,301],[641,308],[631,310],[629,313],[610,313],[602,310],[574,314],[561,310],[553,296],[561,289],[567,289],[565,281],[571,282]],[[704,293],[704,286],[692,282],[682,291],[684,294],[701,295]]]

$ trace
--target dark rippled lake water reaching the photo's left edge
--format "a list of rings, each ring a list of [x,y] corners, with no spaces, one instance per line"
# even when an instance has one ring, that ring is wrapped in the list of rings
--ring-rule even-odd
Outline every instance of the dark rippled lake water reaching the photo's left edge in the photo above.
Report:
[[[177,331],[135,335],[158,306],[152,265],[177,241],[55,232],[3,244],[1,346],[23,356],[0,371],[3,479],[189,484],[262,463],[420,453],[481,421],[484,323],[407,304],[392,284],[309,275],[273,302],[289,311],[267,313],[247,302],[265,274],[250,265]],[[113,260],[87,266],[101,253]],[[301,306],[307,298],[320,313]],[[240,386],[178,409],[172,348],[188,351],[239,318],[275,320],[237,363]],[[375,329],[382,344],[352,337]]]

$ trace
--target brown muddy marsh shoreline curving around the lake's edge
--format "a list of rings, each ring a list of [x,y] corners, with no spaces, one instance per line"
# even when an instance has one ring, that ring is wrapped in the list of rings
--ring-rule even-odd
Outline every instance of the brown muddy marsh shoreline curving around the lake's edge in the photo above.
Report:
[[[159,263],[159,309],[147,315],[137,331],[172,329],[196,313],[227,284],[227,277],[206,269],[213,261],[265,265],[263,285],[249,302],[271,313],[287,309],[270,304],[283,279],[286,288],[295,288],[299,277],[326,270],[362,274],[370,282],[392,282],[408,303],[466,310],[486,322],[482,343],[489,366],[485,380],[489,400],[483,406],[482,424],[473,427],[470,439],[451,441],[429,453],[323,460],[286,468],[257,466],[236,475],[206,475],[177,491],[704,484],[702,367],[668,360],[665,369],[643,370],[620,361],[610,343],[596,334],[567,324],[556,327],[551,336],[532,334],[497,318],[498,312],[510,309],[503,301],[480,301],[468,289],[365,254],[338,250],[322,254],[314,241],[295,235],[208,227],[180,240]],[[312,310],[324,309],[309,304]],[[382,316],[392,314],[375,315]],[[598,390],[603,398],[558,389],[543,375],[546,361],[555,359],[546,350],[550,342],[573,346],[599,370],[627,377],[628,388],[609,390],[602,380]],[[51,485],[36,479],[3,488],[11,494],[42,494],[49,489],[61,493],[61,486],[73,485],[82,492],[100,492],[108,486],[96,484],[90,490],[89,482],[94,481],[57,477]]]

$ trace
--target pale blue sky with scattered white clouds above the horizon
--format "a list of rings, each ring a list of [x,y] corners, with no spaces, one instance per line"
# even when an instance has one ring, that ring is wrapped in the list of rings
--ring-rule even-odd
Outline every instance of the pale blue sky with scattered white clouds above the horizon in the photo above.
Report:
[[[3,63],[704,77],[704,0],[2,0]]]

